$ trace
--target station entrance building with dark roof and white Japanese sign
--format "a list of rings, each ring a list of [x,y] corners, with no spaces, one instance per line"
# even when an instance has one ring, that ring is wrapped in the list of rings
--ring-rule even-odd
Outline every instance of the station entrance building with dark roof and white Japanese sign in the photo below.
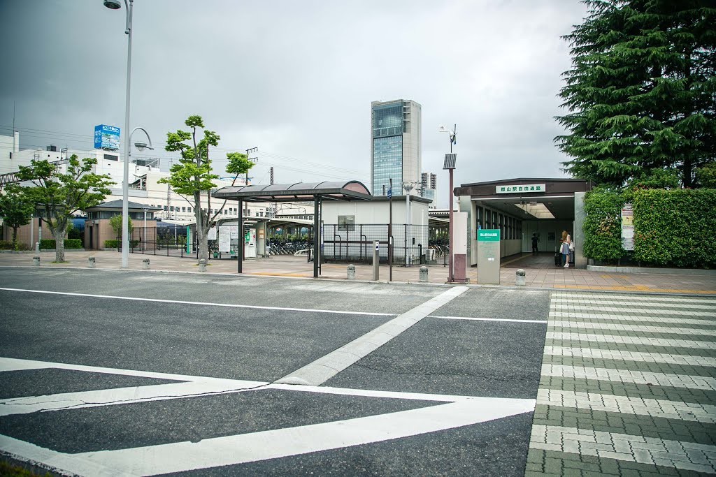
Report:
[[[460,212],[468,212],[468,257],[477,265],[477,230],[500,229],[500,256],[532,251],[533,234],[540,252],[555,252],[561,232],[574,239],[575,263],[586,267],[581,253],[584,193],[592,183],[581,179],[518,178],[475,182],[455,187]]]

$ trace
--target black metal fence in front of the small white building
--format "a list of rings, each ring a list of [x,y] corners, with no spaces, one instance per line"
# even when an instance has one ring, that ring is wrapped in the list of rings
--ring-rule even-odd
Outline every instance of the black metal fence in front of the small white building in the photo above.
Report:
[[[394,224],[392,226],[392,262],[403,265],[432,262],[435,249],[430,247],[427,225]],[[325,262],[369,263],[373,260],[375,242],[379,242],[379,258],[388,262],[388,225],[323,226],[323,260]]]

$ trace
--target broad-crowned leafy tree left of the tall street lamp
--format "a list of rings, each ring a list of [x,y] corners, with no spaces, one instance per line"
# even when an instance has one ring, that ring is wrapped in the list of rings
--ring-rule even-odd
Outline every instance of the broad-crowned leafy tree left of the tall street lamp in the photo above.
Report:
[[[66,172],[47,159],[33,159],[29,166],[19,166],[17,177],[32,182],[21,187],[37,210],[42,210],[55,241],[55,261],[64,262],[64,235],[70,217],[78,210],[93,207],[111,193],[115,184],[106,174],[92,172],[97,159],[85,157],[81,161],[72,154]]]

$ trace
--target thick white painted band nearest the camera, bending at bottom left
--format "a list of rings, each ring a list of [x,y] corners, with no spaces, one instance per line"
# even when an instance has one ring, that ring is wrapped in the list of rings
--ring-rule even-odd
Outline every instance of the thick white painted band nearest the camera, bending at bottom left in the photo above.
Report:
[[[41,461],[80,475],[150,476],[297,456],[471,426],[531,412],[534,402],[500,398],[465,400],[344,421],[208,438],[198,443],[178,442],[116,451],[66,454],[6,436],[0,436],[0,448],[24,460]]]

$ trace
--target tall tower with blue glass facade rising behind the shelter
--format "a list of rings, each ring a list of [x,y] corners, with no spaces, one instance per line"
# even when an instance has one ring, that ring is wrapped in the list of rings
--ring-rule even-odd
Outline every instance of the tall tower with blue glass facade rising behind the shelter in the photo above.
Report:
[[[386,195],[388,180],[393,194],[402,195],[403,182],[412,182],[419,195],[422,167],[422,119],[420,104],[410,99],[374,101],[371,106],[370,176],[373,195]],[[399,189],[400,188],[400,189]]]

